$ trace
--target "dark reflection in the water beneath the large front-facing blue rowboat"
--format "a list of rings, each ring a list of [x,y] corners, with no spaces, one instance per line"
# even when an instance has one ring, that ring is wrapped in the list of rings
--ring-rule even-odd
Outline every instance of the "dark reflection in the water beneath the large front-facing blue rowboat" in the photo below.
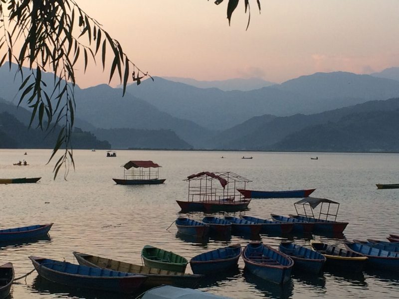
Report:
[[[294,289],[293,282],[290,280],[284,285],[277,285],[271,282],[265,281],[253,275],[249,271],[244,269],[244,279],[247,283],[253,285],[257,290],[259,290],[265,297],[278,298],[278,299],[288,299],[292,297],[292,292]]]

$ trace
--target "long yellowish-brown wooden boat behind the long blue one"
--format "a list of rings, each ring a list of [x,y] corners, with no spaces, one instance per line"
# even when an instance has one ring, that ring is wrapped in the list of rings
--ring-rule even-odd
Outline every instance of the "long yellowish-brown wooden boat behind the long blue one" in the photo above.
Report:
[[[79,265],[145,275],[148,279],[144,282],[143,288],[147,289],[162,285],[195,288],[203,277],[202,275],[184,274],[181,272],[149,268],[146,266],[115,261],[75,251],[73,252],[73,255]]]

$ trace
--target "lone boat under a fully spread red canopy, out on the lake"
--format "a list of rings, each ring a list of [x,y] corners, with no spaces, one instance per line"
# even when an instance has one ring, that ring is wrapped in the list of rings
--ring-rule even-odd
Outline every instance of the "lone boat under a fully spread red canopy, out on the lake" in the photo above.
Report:
[[[159,178],[159,167],[153,161],[129,161],[122,165],[123,179],[113,178],[119,185],[156,185],[165,182],[165,178]],[[151,168],[156,170],[151,172]]]

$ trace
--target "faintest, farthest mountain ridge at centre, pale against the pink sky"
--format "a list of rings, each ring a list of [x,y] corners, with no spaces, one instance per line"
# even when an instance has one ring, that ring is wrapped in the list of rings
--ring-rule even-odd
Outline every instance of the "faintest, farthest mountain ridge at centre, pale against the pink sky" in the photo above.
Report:
[[[185,83],[198,88],[218,88],[223,91],[240,90],[249,91],[259,89],[262,87],[274,85],[276,83],[265,81],[260,78],[250,79],[228,79],[228,80],[217,80],[217,81],[198,81],[190,78],[179,78],[179,77],[163,77],[166,80]]]

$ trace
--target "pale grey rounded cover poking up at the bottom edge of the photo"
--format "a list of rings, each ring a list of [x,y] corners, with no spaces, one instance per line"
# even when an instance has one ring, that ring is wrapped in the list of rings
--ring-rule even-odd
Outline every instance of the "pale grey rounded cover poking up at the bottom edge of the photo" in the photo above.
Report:
[[[172,286],[157,287],[146,291],[136,299],[231,299],[210,293]]]

